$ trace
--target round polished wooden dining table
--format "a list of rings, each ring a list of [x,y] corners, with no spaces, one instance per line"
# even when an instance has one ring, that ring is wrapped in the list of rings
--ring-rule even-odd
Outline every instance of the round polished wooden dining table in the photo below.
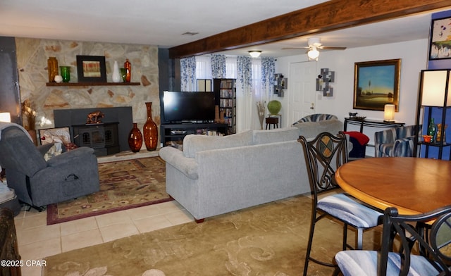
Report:
[[[414,157],[362,158],[341,165],[335,180],[370,206],[415,215],[451,205],[451,161]]]

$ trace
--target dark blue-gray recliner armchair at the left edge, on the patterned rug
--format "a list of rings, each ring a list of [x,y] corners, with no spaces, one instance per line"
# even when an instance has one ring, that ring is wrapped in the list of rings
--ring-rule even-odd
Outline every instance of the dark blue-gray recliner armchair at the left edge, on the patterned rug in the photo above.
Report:
[[[99,191],[94,149],[80,147],[46,161],[30,135],[13,123],[0,123],[0,166],[18,199],[39,211]]]

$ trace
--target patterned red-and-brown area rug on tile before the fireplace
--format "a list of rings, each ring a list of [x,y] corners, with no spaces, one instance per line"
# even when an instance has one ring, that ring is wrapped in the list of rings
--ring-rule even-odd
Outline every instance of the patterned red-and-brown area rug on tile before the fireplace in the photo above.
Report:
[[[159,157],[99,163],[100,191],[47,206],[47,225],[171,201]]]

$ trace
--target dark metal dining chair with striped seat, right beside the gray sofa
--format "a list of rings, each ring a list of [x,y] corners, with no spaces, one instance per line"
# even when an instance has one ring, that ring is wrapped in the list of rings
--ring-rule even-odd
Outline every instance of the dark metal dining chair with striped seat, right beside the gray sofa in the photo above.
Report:
[[[313,194],[309,242],[304,265],[304,275],[307,275],[309,261],[330,267],[336,266],[332,261],[326,263],[310,256],[316,222],[327,216],[332,216],[344,223],[342,250],[353,249],[350,244],[347,244],[347,227],[348,225],[354,227],[357,229],[357,249],[362,249],[363,231],[380,225],[383,213],[365,206],[345,193],[324,196],[319,199],[319,195],[323,192],[339,187],[337,182],[335,182],[335,170],[347,162],[347,139],[345,134],[340,132],[335,136],[329,132],[322,132],[311,141],[307,141],[304,136],[300,136],[298,141],[304,149],[307,172]]]

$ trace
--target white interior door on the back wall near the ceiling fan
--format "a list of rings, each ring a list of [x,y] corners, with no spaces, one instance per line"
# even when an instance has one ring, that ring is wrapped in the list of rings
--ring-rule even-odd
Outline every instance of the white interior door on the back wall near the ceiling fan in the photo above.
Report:
[[[315,113],[316,62],[290,64],[290,96],[288,101],[288,122]]]

